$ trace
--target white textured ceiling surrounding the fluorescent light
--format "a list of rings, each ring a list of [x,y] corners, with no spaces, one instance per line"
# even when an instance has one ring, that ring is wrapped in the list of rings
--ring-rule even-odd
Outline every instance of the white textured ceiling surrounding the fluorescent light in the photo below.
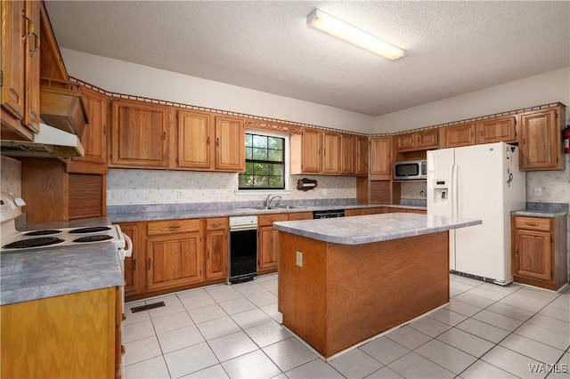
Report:
[[[46,1],[61,47],[379,116],[570,66],[570,2]],[[319,8],[406,51],[306,26]]]

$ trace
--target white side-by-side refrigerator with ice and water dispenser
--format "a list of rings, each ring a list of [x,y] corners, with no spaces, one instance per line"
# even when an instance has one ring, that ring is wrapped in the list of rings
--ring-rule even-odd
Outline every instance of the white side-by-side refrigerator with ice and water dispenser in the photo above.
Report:
[[[512,282],[510,211],[525,208],[518,148],[504,142],[428,151],[428,214],[483,220],[450,230],[450,270]]]

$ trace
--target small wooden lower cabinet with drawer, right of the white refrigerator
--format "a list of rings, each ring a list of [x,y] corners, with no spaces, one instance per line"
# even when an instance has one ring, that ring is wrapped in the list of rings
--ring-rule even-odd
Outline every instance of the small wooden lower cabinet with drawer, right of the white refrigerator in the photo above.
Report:
[[[566,267],[566,216],[512,217],[516,282],[556,291],[567,282]]]

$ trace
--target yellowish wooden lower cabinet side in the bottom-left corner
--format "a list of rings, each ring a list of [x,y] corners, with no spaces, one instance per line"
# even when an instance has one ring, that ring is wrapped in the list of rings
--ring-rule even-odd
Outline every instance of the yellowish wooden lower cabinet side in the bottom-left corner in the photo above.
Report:
[[[3,378],[120,377],[120,288],[0,307]]]

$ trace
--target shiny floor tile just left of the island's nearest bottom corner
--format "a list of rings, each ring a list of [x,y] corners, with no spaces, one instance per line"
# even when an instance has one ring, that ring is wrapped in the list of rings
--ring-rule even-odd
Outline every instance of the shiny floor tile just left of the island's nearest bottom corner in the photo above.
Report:
[[[313,351],[294,337],[266,346],[263,351],[283,372],[317,358]]]

